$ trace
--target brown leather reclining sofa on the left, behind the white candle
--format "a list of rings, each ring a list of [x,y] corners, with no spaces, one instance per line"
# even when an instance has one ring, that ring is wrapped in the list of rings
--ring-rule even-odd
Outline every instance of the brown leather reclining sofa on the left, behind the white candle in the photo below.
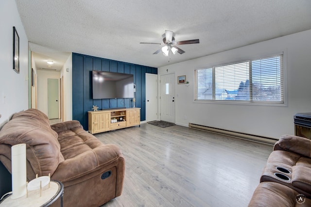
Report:
[[[0,161],[9,172],[11,146],[18,143],[26,143],[28,181],[50,173],[64,185],[64,207],[98,207],[121,195],[125,162],[120,148],[101,143],[78,121],[50,126],[41,111],[14,114],[0,130]]]

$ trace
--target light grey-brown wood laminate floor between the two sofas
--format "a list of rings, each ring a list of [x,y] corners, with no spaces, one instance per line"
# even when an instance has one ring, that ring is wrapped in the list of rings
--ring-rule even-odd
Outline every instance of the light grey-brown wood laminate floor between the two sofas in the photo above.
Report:
[[[247,207],[273,150],[177,125],[95,136],[118,145],[125,158],[122,195],[103,207]]]

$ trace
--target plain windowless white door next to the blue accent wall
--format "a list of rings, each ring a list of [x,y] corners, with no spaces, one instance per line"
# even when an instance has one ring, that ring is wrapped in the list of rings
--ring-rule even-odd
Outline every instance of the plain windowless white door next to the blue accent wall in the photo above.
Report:
[[[146,73],[146,120],[157,120],[157,75]]]

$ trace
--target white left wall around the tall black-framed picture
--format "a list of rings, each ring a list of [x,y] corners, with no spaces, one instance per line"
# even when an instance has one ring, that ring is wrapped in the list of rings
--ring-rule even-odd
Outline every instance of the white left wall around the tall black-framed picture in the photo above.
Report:
[[[28,109],[28,39],[14,0],[1,0],[0,19],[1,124],[13,113]],[[19,36],[19,74],[13,70],[13,27]]]

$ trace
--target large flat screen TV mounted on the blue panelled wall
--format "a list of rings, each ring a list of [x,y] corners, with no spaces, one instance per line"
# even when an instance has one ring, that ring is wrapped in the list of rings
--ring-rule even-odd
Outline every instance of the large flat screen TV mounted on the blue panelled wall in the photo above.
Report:
[[[93,99],[133,98],[133,74],[92,71]]]

